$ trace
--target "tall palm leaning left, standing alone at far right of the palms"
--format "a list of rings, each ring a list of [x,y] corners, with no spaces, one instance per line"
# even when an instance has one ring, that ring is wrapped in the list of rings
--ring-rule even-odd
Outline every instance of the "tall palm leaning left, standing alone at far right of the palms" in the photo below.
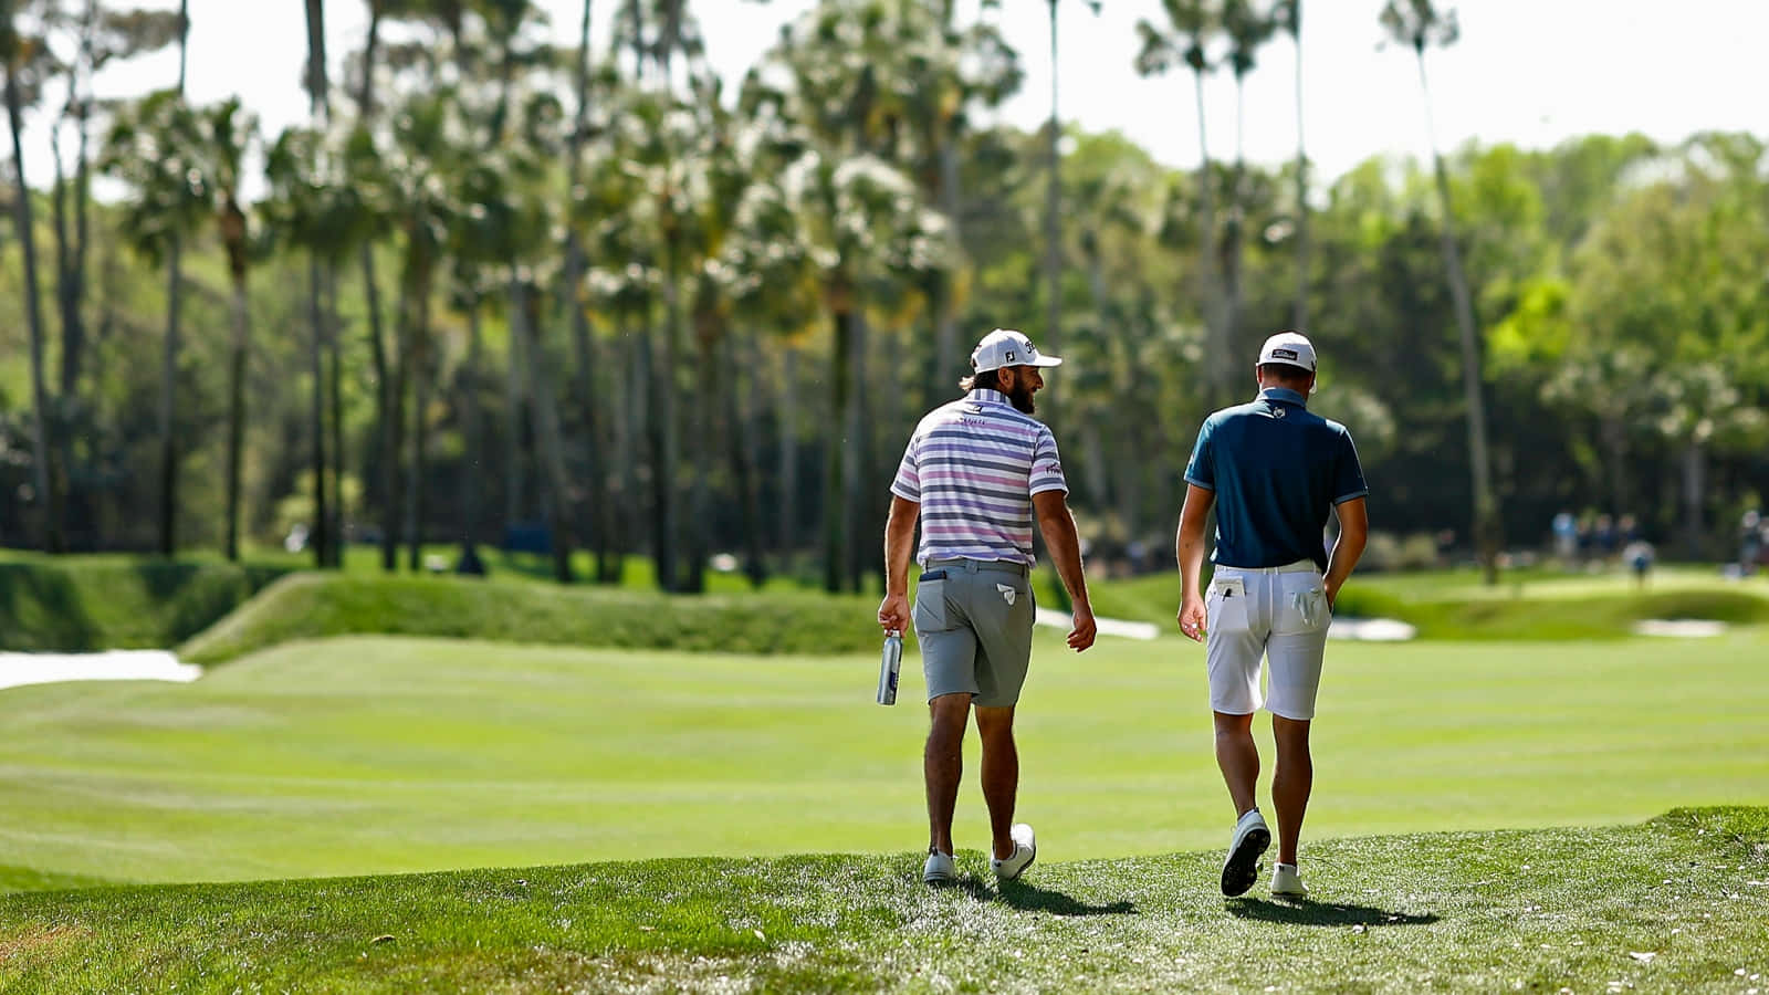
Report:
[[[1389,39],[1405,44],[1419,62],[1419,90],[1426,106],[1426,138],[1431,143],[1431,166],[1436,177],[1438,204],[1444,211],[1442,246],[1444,267],[1449,271],[1451,299],[1456,306],[1456,328],[1461,333],[1461,386],[1468,404],[1468,460],[1474,478],[1474,542],[1488,584],[1498,582],[1498,549],[1504,544],[1504,522],[1498,517],[1498,496],[1493,492],[1491,462],[1486,450],[1486,402],[1481,397],[1481,342],[1474,326],[1474,303],[1468,278],[1461,269],[1456,248],[1456,211],[1449,197],[1449,172],[1438,154],[1431,126],[1431,85],[1426,80],[1426,48],[1456,44],[1461,28],[1456,11],[1438,11],[1431,0],[1389,0],[1382,9],[1382,27]]]

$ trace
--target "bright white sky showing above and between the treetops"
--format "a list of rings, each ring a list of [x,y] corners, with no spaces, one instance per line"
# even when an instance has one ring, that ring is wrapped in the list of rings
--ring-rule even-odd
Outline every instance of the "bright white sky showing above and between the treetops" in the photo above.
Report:
[[[175,7],[172,0],[136,0]],[[1442,4],[1442,0],[1440,0]],[[561,44],[575,44],[578,0],[540,0]],[[593,44],[607,42],[616,0],[596,0]],[[709,58],[736,81],[778,27],[812,0],[690,0]],[[1758,0],[1461,0],[1461,41],[1428,55],[1438,142],[1456,147],[1516,142],[1550,147],[1587,133],[1645,135],[1675,142],[1702,129],[1769,133],[1769,4]],[[1003,108],[1008,122],[1037,127],[1049,113],[1047,7],[1003,0],[991,14],[1019,50],[1026,80]],[[1099,16],[1081,0],[1060,0],[1061,115],[1083,127],[1120,129],[1157,159],[1198,161],[1191,73],[1139,80],[1136,21],[1159,23],[1159,0],[1104,0]],[[214,101],[239,94],[274,135],[306,117],[301,0],[191,0],[189,94]],[[975,9],[975,4],[971,4]],[[1304,113],[1318,175],[1337,177],[1373,154],[1424,156],[1426,124],[1408,50],[1378,51],[1382,0],[1304,0]],[[973,11],[971,11],[973,12]],[[327,50],[334,80],[343,55],[361,46],[363,0],[327,0]],[[1295,156],[1295,48],[1279,35],[1247,78],[1247,158]],[[101,78],[103,96],[172,85],[177,58],[142,58]],[[51,97],[58,99],[58,87]],[[1235,150],[1235,89],[1228,73],[1206,83],[1210,152]],[[32,182],[48,181],[48,136],[28,129]]]

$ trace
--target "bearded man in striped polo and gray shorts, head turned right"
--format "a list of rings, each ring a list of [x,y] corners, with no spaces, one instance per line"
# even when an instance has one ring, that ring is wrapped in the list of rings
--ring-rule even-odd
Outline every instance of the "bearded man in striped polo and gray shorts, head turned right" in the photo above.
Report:
[[[1038,372],[1061,363],[1042,356],[1021,333],[996,329],[971,352],[966,395],[930,411],[916,425],[892,483],[884,526],[884,602],[879,625],[909,627],[909,547],[922,521],[916,561],[915,636],[922,644],[930,728],[922,768],[927,777],[927,862],[922,880],[957,878],[952,813],[964,765],[964,726],[976,710],[984,742],[984,802],[992,848],[989,866],[1003,882],[1017,878],[1038,853],[1026,823],[1014,823],[1019,752],[1014,705],[1031,662],[1031,517],[1074,602],[1068,646],[1093,644],[1093,609],[1081,574],[1081,544],[1068,513],[1068,485],[1056,439],[1038,420]]]

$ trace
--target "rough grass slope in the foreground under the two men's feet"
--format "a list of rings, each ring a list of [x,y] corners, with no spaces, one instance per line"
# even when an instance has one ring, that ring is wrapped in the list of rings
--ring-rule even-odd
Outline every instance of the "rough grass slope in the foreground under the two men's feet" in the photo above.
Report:
[[[1769,809],[1215,852],[676,859],[0,898],[4,991],[1769,991]]]

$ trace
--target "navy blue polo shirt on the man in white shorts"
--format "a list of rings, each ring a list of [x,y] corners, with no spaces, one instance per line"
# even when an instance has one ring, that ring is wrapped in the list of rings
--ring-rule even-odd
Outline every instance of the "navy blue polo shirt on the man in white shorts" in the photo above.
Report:
[[[1210,561],[1222,567],[1313,559],[1325,572],[1327,515],[1369,494],[1352,434],[1284,388],[1265,388],[1251,404],[1206,418],[1185,482],[1215,490]]]

